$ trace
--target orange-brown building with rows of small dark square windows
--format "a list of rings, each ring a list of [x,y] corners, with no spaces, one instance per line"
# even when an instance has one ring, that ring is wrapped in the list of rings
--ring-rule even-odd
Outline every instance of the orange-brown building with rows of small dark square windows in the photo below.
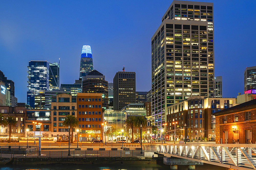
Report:
[[[77,118],[81,129],[80,141],[102,139],[102,94],[78,93]],[[102,113],[102,114],[101,114]]]

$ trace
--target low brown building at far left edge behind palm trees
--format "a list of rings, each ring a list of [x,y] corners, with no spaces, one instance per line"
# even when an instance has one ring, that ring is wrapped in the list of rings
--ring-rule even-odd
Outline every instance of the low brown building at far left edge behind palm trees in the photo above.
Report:
[[[17,125],[12,127],[11,135],[14,137],[23,137],[24,136],[24,123],[26,108],[25,107],[10,107],[10,106],[0,106],[0,113],[6,116],[14,116]],[[0,127],[0,136],[6,137],[9,136],[9,127]]]

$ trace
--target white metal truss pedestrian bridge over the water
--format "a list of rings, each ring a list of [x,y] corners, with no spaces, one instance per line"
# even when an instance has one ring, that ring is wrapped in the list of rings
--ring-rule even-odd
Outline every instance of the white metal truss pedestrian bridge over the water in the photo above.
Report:
[[[255,144],[156,144],[158,153],[238,170],[256,169]]]

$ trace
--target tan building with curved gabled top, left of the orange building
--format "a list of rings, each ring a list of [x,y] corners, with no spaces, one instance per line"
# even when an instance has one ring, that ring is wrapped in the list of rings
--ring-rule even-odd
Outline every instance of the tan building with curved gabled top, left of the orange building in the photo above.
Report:
[[[70,93],[57,94],[51,102],[51,135],[57,137],[57,141],[68,140],[68,127],[64,127],[63,121],[67,115],[77,117],[77,98]],[[77,133],[73,133],[74,140]],[[74,141],[73,140],[73,141]]]

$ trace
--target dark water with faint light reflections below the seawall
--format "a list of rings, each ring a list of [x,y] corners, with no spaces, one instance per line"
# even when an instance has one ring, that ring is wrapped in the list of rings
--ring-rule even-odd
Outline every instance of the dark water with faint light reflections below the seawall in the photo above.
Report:
[[[178,165],[178,170],[187,170],[187,165]],[[120,162],[114,164],[84,164],[84,165],[8,165],[0,166],[0,170],[170,170],[170,165],[158,164],[121,164]],[[196,166],[196,170],[234,170],[221,166],[204,164]]]

